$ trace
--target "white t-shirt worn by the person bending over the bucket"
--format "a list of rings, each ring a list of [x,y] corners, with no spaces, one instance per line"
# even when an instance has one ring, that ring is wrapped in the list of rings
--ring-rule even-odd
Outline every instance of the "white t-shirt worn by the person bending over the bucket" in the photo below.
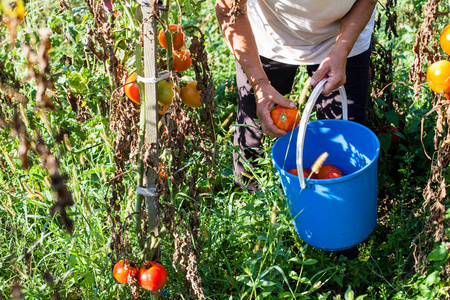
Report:
[[[248,0],[260,55],[293,65],[320,64],[336,41],[340,19],[356,0]],[[349,57],[370,46],[375,10]]]

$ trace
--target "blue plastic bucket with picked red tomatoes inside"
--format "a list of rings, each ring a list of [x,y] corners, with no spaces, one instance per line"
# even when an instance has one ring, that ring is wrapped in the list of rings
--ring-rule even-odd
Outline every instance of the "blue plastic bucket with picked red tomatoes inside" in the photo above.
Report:
[[[309,118],[309,114],[303,117]],[[299,144],[302,149],[298,149]],[[325,164],[337,166],[344,176],[305,181],[303,176],[286,172],[297,168],[303,174],[302,167],[311,168],[323,152],[329,154]],[[377,221],[379,152],[377,136],[347,120],[306,120],[304,128],[301,122],[294,131],[277,139],[271,151],[272,162],[295,231],[303,241],[318,249],[337,251],[358,245],[371,234]]]

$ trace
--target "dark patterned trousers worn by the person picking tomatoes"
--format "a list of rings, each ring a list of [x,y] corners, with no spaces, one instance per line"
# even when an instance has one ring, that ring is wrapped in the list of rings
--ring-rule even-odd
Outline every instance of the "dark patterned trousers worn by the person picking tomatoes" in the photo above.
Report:
[[[288,65],[261,57],[264,71],[272,86],[282,95],[292,90],[295,74],[299,66]],[[348,118],[365,124],[366,103],[369,95],[370,50],[350,57],[346,65],[346,84]],[[310,76],[319,65],[307,66]],[[241,66],[236,63],[236,82],[239,93],[239,105],[234,132],[234,145],[238,149],[233,152],[233,168],[235,185],[253,191],[257,182],[250,180],[257,170],[255,159],[262,157],[262,131],[256,116],[256,100],[247,76]],[[316,115],[319,119],[339,119],[342,114],[341,99],[338,91],[328,96],[321,95],[316,102]],[[245,174],[250,176],[245,176]]]

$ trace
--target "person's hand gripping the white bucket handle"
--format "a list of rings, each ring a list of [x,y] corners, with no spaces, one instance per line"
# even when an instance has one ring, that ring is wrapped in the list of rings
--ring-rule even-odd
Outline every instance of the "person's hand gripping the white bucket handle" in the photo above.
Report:
[[[330,54],[322,61],[319,68],[314,72],[311,78],[311,85],[315,86],[322,79],[328,78],[323,87],[322,94],[329,95],[335,89],[339,88],[346,81],[345,65],[347,64],[347,56],[338,52],[330,52]]]

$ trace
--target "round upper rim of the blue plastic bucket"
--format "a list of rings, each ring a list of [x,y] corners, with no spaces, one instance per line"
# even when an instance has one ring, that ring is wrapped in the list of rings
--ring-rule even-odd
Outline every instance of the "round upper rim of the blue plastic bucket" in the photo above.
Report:
[[[365,173],[367,171],[367,169],[369,169],[374,163],[377,162],[378,157],[380,155],[380,141],[378,140],[378,137],[375,135],[375,133],[372,130],[370,130],[368,127],[366,127],[364,125],[361,125],[361,124],[359,124],[357,122],[354,122],[354,121],[340,120],[340,119],[315,120],[315,121],[308,122],[308,126],[311,123],[319,123],[319,122],[325,122],[325,123],[327,123],[327,122],[348,122],[348,123],[351,123],[352,126],[353,125],[359,126],[359,127],[363,128],[364,130],[366,130],[369,134],[371,134],[375,138],[374,141],[375,141],[377,149],[376,149],[375,156],[371,159],[370,163],[367,164],[366,166],[364,166],[363,168],[359,169],[358,171],[350,173],[350,174],[347,174],[347,175],[344,175],[342,177],[338,177],[338,178],[331,178],[331,179],[312,179],[312,178],[310,178],[310,179],[306,180],[307,186],[312,185],[312,184],[329,185],[329,184],[334,184],[334,183],[338,183],[338,182],[345,182],[345,181],[351,180],[351,179],[353,179],[355,177],[358,177],[361,174]],[[287,134],[285,136],[280,137],[280,138],[286,138],[289,134],[293,134],[293,131],[296,130],[297,128],[298,128],[298,126],[296,128],[294,128],[293,130],[287,132]],[[288,177],[290,177],[290,178],[292,178],[294,180],[297,180],[296,178],[298,178],[298,176],[293,175],[291,173],[288,173],[286,170],[282,169],[281,166],[279,166],[276,163],[276,161],[275,161],[275,159],[273,157],[274,156],[273,155],[273,149],[275,148],[276,144],[279,142],[280,138],[278,138],[275,141],[275,143],[272,146],[272,149],[270,150],[270,157],[272,159],[272,163],[274,164],[275,168],[281,172],[282,175],[288,176]],[[326,163],[326,161],[325,161],[325,163]]]

